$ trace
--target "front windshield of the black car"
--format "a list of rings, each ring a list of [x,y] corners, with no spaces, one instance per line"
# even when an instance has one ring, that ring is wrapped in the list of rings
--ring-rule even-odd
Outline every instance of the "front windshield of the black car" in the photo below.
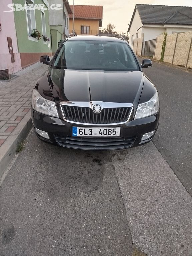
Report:
[[[139,66],[125,42],[68,40],[57,52],[51,68],[137,71]]]

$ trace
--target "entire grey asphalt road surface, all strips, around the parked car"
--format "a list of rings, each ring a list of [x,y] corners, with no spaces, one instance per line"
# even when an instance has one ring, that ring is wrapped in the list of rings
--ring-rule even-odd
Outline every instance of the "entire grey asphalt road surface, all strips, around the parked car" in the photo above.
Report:
[[[192,255],[191,74],[157,63],[145,72],[161,100],[153,142],[80,151],[30,133],[0,187],[0,256],[140,256],[134,247],[148,256]]]

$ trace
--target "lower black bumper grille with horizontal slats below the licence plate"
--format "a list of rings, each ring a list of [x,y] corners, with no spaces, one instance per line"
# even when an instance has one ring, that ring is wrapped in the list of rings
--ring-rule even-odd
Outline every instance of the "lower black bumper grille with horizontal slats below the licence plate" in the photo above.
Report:
[[[136,136],[118,138],[85,138],[55,135],[56,142],[63,147],[91,150],[112,150],[129,148],[135,142]]]

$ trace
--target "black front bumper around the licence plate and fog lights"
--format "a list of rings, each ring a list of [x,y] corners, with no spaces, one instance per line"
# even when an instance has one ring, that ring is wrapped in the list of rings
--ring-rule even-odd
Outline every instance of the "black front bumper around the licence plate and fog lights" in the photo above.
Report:
[[[94,127],[87,124],[73,124],[60,118],[41,114],[31,109],[33,126],[39,130],[46,131],[49,139],[36,135],[43,141],[58,144],[63,147],[85,149],[85,150],[113,150],[139,146],[153,138],[141,141],[144,133],[156,131],[159,125],[160,112],[153,116],[131,120],[121,125],[106,125],[105,127],[121,127],[120,137],[72,137],[72,127]],[[98,127],[98,126],[95,126]],[[155,134],[155,133],[154,133]]]

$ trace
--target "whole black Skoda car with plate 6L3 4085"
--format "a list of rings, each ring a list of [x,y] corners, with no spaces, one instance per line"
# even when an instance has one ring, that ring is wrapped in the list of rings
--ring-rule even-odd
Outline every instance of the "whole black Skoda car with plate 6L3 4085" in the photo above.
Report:
[[[32,92],[36,135],[63,147],[112,150],[149,142],[159,124],[159,97],[121,37],[70,34]]]

